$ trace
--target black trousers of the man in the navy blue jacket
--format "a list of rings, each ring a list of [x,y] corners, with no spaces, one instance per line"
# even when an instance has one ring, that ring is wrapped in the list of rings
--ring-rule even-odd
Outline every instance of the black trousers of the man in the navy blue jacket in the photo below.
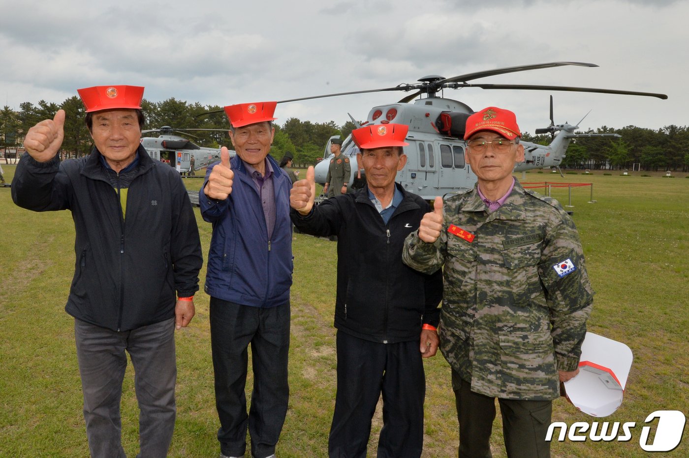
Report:
[[[218,441],[223,455],[244,455],[247,426],[251,455],[263,458],[275,452],[289,399],[289,316],[289,302],[261,308],[211,298],[211,348],[220,419]],[[244,389],[249,345],[254,389],[247,414]]]

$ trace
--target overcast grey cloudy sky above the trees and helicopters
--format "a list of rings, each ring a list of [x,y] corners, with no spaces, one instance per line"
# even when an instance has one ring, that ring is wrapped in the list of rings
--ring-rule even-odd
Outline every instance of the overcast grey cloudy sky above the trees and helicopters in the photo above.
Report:
[[[473,83],[571,85],[668,100],[548,91],[446,89],[475,110],[513,109],[522,131],[689,124],[689,1],[681,0],[0,0],[0,106],[60,103],[76,88],[145,86],[145,98],[231,105],[415,83],[552,61],[595,63]],[[276,117],[343,124],[404,92],[289,102]]]

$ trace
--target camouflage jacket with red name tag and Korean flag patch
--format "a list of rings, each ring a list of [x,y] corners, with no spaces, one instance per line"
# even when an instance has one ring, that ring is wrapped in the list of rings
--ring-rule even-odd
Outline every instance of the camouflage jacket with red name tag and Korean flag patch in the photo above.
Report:
[[[402,259],[425,273],[444,265],[440,348],[472,391],[555,399],[557,371],[577,369],[593,304],[579,235],[555,199],[518,182],[486,210],[476,188],[447,199],[440,238],[411,233]]]

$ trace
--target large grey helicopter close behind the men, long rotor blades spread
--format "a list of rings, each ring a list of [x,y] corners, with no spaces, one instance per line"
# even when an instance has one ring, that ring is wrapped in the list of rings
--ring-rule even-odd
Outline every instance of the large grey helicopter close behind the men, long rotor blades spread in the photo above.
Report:
[[[354,121],[354,123],[356,124],[356,127],[371,124],[384,125],[389,122],[409,125],[409,133],[407,133],[406,139],[406,141],[409,143],[409,146],[403,147],[403,151],[407,155],[407,165],[398,172],[395,181],[400,183],[402,187],[409,192],[420,195],[424,199],[433,200],[435,196],[438,195],[456,193],[460,190],[471,188],[477,180],[475,173],[471,171],[471,166],[465,162],[464,151],[466,149],[466,142],[463,140],[464,129],[466,127],[466,118],[469,118],[469,116],[471,116],[471,114],[473,114],[475,111],[473,111],[468,105],[458,100],[444,98],[442,96],[438,97],[437,94],[442,89],[460,89],[463,87],[479,87],[481,89],[535,89],[650,96],[661,98],[663,100],[668,98],[668,96],[665,94],[623,91],[616,89],[466,83],[466,81],[484,78],[486,76],[494,76],[511,72],[522,72],[532,69],[559,67],[563,65],[577,65],[582,67],[598,66],[592,63],[581,62],[551,62],[535,65],[504,67],[484,72],[475,72],[471,74],[454,76],[453,78],[429,75],[424,76],[424,78],[420,78],[418,80],[420,83],[413,85],[402,84],[383,89],[328,94],[325,96],[282,100],[280,102],[292,102],[296,100],[309,100],[311,98],[342,96],[349,94],[362,94],[376,91],[414,91],[413,94],[402,98],[402,100],[396,103],[373,107],[369,111],[367,120],[360,123]],[[420,96],[420,98],[415,100],[413,104],[409,103],[417,96]],[[567,147],[575,138],[620,136],[618,134],[610,133],[577,134],[575,131],[579,129],[578,125],[568,124],[567,122],[563,124],[555,124],[553,121],[552,96],[550,112],[551,124],[542,129],[535,129],[535,133],[551,133],[551,143],[548,145],[541,145],[526,141],[520,142],[522,145],[524,145],[525,157],[523,162],[515,165],[515,171],[526,171],[534,168],[544,167],[559,168],[559,164],[562,163],[562,160],[565,157]],[[351,115],[350,118],[353,120]],[[586,116],[584,116],[584,118],[586,118]],[[579,123],[581,123],[584,118],[582,118]],[[327,176],[330,159],[332,157],[330,153],[330,144],[333,138],[339,138],[339,135],[333,135],[333,137],[329,139],[325,147],[323,160],[320,160],[315,167],[316,182],[320,184],[325,184],[325,178]],[[351,162],[351,175],[348,182],[348,189],[355,190],[362,187],[364,184],[364,171],[358,168],[356,161],[356,154],[360,151],[351,139],[351,135],[347,136],[347,138],[342,142],[341,151],[345,157],[349,157]],[[320,196],[320,200],[324,198],[324,196]]]

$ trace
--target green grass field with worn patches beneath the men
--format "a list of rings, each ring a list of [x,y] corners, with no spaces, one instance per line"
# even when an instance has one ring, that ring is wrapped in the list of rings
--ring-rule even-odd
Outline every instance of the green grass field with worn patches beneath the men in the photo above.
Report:
[[[13,165],[3,164],[6,179]],[[555,457],[641,457],[641,426],[657,410],[689,413],[689,179],[660,176],[530,173],[526,182],[593,183],[572,188],[574,219],[584,244],[595,296],[589,330],[625,342],[634,352],[624,402],[606,421],[636,422],[627,442],[566,441]],[[200,179],[187,179],[198,189]],[[568,204],[568,189],[553,188]],[[195,210],[204,252],[211,228]],[[0,188],[0,457],[87,457],[73,319],[63,307],[74,270],[74,225],[69,212],[35,213],[12,204]],[[280,457],[325,457],[335,395],[332,327],[336,244],[297,234],[291,292],[291,397],[278,444]],[[200,274],[205,277],[205,269]],[[171,457],[218,453],[210,354],[208,297],[196,295],[192,325],[176,335],[178,415]],[[457,420],[449,367],[426,360],[424,457],[452,457]],[[251,386],[251,380],[247,383]],[[122,402],[123,441],[138,452],[133,373],[127,369]],[[566,400],[553,419],[593,422]],[[601,421],[603,419],[600,419]],[[369,455],[380,430],[376,413]],[[650,425],[655,430],[657,421]],[[689,456],[689,439],[667,456]],[[496,419],[493,456],[504,457]]]

